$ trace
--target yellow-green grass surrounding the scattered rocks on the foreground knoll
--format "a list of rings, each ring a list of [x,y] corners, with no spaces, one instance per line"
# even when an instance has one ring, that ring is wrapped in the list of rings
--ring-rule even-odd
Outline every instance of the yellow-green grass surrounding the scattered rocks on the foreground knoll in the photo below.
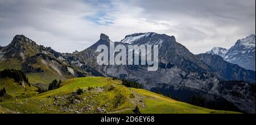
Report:
[[[38,94],[35,97],[27,98],[27,99],[19,99],[16,102],[14,101],[3,102],[0,103],[3,107],[11,110],[18,110],[20,113],[64,113],[58,111],[59,107],[53,105],[53,101],[56,95],[66,95],[71,94],[72,91],[76,91],[77,88],[86,89],[88,87],[100,87],[100,86],[115,86],[115,90],[113,91],[104,91],[104,93],[85,93],[81,95],[85,96],[93,96],[96,97],[87,99],[88,102],[97,103],[97,106],[103,107],[106,103],[108,103],[108,111],[118,111],[124,108],[133,108],[127,99],[122,103],[121,106],[115,107],[114,102],[115,98],[118,95],[123,95],[124,98],[129,98],[131,91],[127,89],[127,87],[120,85],[121,81],[114,81],[111,78],[104,77],[86,77],[86,78],[75,78],[71,80],[67,80],[63,83],[63,85],[59,89],[47,91],[46,93]],[[26,101],[25,101],[26,100]],[[77,104],[77,107],[84,107],[86,103]],[[95,112],[97,107],[94,107],[94,111],[87,113],[97,113]]]

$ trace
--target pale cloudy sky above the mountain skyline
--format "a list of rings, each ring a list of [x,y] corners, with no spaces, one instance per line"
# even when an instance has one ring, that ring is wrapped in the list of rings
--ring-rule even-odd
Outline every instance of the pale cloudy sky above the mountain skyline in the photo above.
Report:
[[[174,35],[193,53],[255,34],[255,0],[0,0],[0,45],[23,34],[59,52],[81,51],[104,33]]]

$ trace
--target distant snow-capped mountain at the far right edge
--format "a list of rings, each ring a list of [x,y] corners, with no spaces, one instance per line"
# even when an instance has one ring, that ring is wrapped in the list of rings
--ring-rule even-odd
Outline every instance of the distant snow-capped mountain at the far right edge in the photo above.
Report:
[[[255,70],[255,35],[249,35],[245,39],[237,40],[236,44],[229,50],[214,47],[210,53],[219,55],[225,61],[240,65],[242,68]]]

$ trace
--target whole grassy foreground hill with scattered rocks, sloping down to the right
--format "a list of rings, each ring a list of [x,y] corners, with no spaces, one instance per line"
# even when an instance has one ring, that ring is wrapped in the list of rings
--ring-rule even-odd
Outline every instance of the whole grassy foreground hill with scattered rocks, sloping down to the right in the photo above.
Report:
[[[83,93],[77,93],[78,89]],[[10,91],[7,89],[7,93]],[[22,91],[17,89],[17,91]],[[31,90],[33,91],[33,90]],[[10,93],[11,94],[11,93]],[[15,93],[16,94],[16,93]],[[19,95],[19,94],[18,94]],[[175,101],[147,90],[128,88],[119,80],[105,77],[85,77],[67,80],[59,89],[18,101],[0,102],[0,106],[19,113],[236,113],[209,110]],[[0,109],[1,113],[1,109]]]

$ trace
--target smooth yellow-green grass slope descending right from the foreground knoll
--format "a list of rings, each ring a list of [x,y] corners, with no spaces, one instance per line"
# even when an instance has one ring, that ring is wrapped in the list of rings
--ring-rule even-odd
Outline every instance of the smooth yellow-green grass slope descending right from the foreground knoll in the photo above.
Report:
[[[175,101],[174,99],[164,97],[151,91],[142,89],[133,89],[137,93],[144,95],[146,108],[141,109],[141,113],[148,114],[223,114],[236,113],[234,111],[210,110],[203,107],[190,105],[188,103]]]

